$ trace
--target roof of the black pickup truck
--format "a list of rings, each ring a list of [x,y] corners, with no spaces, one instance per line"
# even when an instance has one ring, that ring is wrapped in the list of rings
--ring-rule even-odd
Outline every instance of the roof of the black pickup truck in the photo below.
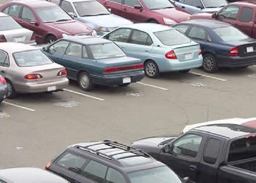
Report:
[[[215,124],[197,127],[192,131],[201,131],[226,138],[236,138],[256,133],[256,129],[236,124]]]

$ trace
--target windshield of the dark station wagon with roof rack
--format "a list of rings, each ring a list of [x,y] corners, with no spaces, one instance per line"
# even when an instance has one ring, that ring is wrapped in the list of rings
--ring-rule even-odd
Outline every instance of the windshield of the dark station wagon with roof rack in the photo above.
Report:
[[[171,169],[161,166],[128,174],[131,183],[183,183]]]

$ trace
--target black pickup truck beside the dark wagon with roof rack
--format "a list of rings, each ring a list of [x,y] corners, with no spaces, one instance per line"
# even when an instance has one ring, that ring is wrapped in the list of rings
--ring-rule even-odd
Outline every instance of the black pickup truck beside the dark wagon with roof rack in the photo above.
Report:
[[[201,126],[180,136],[144,138],[131,146],[192,183],[256,182],[256,129],[247,126]]]

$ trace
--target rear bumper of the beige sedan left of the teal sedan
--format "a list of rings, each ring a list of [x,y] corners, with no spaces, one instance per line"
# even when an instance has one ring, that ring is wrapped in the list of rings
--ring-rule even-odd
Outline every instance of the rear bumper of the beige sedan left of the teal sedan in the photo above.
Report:
[[[22,83],[22,84],[14,84],[15,91],[17,93],[40,93],[40,92],[56,92],[61,89],[64,89],[68,86],[69,80],[67,78],[63,78],[58,81],[52,81],[48,83]],[[48,90],[48,87],[55,86],[55,89]]]

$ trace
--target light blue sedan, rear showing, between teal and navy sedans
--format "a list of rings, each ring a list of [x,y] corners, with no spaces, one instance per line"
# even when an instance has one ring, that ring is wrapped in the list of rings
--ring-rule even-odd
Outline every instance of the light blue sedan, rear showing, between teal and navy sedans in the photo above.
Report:
[[[183,71],[202,66],[201,48],[172,27],[155,23],[122,26],[103,36],[114,41],[129,56],[143,61],[146,76]]]

